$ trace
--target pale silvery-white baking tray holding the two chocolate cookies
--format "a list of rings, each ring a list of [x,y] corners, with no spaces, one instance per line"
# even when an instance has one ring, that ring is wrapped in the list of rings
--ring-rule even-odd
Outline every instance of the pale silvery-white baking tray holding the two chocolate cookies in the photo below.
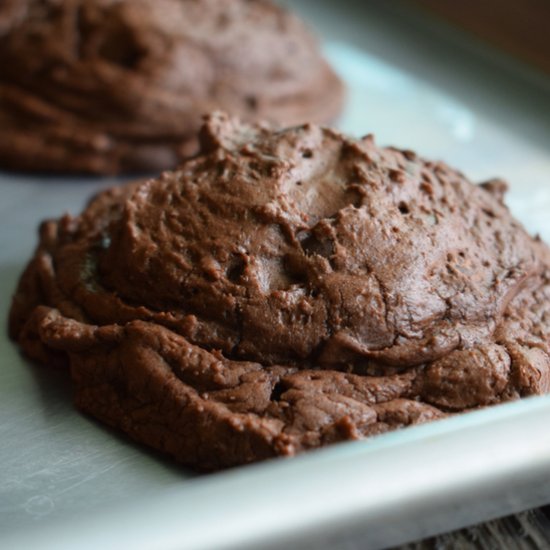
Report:
[[[550,241],[549,82],[388,4],[292,2],[348,84],[340,127],[506,177]],[[113,183],[0,173],[0,548],[379,548],[550,501],[547,397],[207,476],[78,414],[5,320],[39,220]]]

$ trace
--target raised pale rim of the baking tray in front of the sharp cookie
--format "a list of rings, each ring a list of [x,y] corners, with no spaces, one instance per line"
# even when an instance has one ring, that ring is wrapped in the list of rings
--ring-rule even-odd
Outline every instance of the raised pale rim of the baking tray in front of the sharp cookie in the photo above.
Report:
[[[512,497],[510,511],[539,503],[522,491],[549,478],[549,420],[550,395],[525,398],[289,460],[192,478],[148,500],[14,531],[0,536],[0,543],[44,550],[115,549],[121,544],[136,550],[230,550],[285,547],[359,528],[366,531],[366,547],[381,547],[382,540],[384,546],[399,544],[422,534],[407,525],[415,509],[430,515],[448,505],[456,509],[477,503],[472,510],[481,521],[498,515],[495,495],[497,501]],[[396,469],[405,455],[407,468]],[[434,457],[435,462],[427,461]],[[512,478],[510,495],[501,489]],[[309,490],[315,479],[323,479],[330,498]],[[273,508],[273,495],[281,489],[286,496]],[[480,503],[492,506],[484,514]],[[452,527],[471,520],[466,514]],[[402,524],[393,535],[387,532],[391,522]]]

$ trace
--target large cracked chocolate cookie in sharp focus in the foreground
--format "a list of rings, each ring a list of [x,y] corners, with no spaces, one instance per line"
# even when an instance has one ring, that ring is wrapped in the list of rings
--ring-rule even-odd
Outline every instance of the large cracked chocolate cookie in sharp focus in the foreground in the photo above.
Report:
[[[443,163],[215,114],[178,171],[45,222],[11,336],[200,469],[550,390],[550,250]]]

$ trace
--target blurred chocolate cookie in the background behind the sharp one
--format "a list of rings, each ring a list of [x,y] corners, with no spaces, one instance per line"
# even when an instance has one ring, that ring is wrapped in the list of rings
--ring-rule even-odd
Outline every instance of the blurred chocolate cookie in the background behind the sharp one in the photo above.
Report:
[[[4,168],[173,168],[204,113],[328,122],[342,100],[304,25],[265,0],[0,2]]]

